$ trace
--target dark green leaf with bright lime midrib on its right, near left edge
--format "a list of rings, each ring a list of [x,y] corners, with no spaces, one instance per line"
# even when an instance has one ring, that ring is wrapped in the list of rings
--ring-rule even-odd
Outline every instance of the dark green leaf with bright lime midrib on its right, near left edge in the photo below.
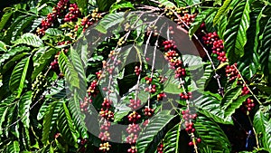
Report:
[[[21,96],[23,91],[23,85],[26,77],[26,73],[28,71],[28,65],[30,62],[30,57],[24,58],[21,62],[19,62],[11,75],[11,79],[9,81],[9,88],[11,91],[17,91],[17,98]]]

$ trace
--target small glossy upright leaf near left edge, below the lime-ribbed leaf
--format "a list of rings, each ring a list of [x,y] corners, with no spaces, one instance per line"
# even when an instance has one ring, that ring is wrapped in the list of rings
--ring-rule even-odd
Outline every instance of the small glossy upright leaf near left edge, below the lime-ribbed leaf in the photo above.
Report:
[[[19,117],[23,118],[23,126],[25,128],[29,128],[30,124],[30,105],[32,103],[32,91],[27,91],[23,94],[19,101]]]

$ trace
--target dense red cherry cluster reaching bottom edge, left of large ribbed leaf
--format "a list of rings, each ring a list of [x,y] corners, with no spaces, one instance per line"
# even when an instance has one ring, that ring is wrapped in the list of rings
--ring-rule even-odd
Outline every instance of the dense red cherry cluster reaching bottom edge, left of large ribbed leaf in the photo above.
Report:
[[[131,145],[131,148],[127,149],[127,152],[137,152],[135,148],[136,139],[138,138],[138,133],[140,131],[140,127],[136,122],[141,119],[141,115],[133,111],[128,116],[128,121],[130,124],[128,125],[128,128],[126,129],[128,136],[126,137],[126,143],[129,143]]]

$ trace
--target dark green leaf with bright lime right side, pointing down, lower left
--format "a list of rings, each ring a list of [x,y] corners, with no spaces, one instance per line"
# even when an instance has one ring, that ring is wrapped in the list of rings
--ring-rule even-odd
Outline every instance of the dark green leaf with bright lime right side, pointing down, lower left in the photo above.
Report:
[[[63,108],[59,112],[59,119],[57,120],[57,126],[59,131],[61,132],[61,136],[69,142],[72,146],[77,146],[78,133],[76,132],[73,121],[70,117],[70,112],[65,104],[63,103]]]

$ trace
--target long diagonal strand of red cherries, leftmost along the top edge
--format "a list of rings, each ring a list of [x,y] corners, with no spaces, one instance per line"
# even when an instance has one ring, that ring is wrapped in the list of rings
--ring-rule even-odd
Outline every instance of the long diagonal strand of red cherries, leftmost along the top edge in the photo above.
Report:
[[[45,19],[42,19],[40,27],[37,28],[36,33],[40,36],[45,34],[45,31],[51,27],[57,17],[66,9],[69,0],[60,0],[57,6],[52,8],[52,13],[47,14]]]

